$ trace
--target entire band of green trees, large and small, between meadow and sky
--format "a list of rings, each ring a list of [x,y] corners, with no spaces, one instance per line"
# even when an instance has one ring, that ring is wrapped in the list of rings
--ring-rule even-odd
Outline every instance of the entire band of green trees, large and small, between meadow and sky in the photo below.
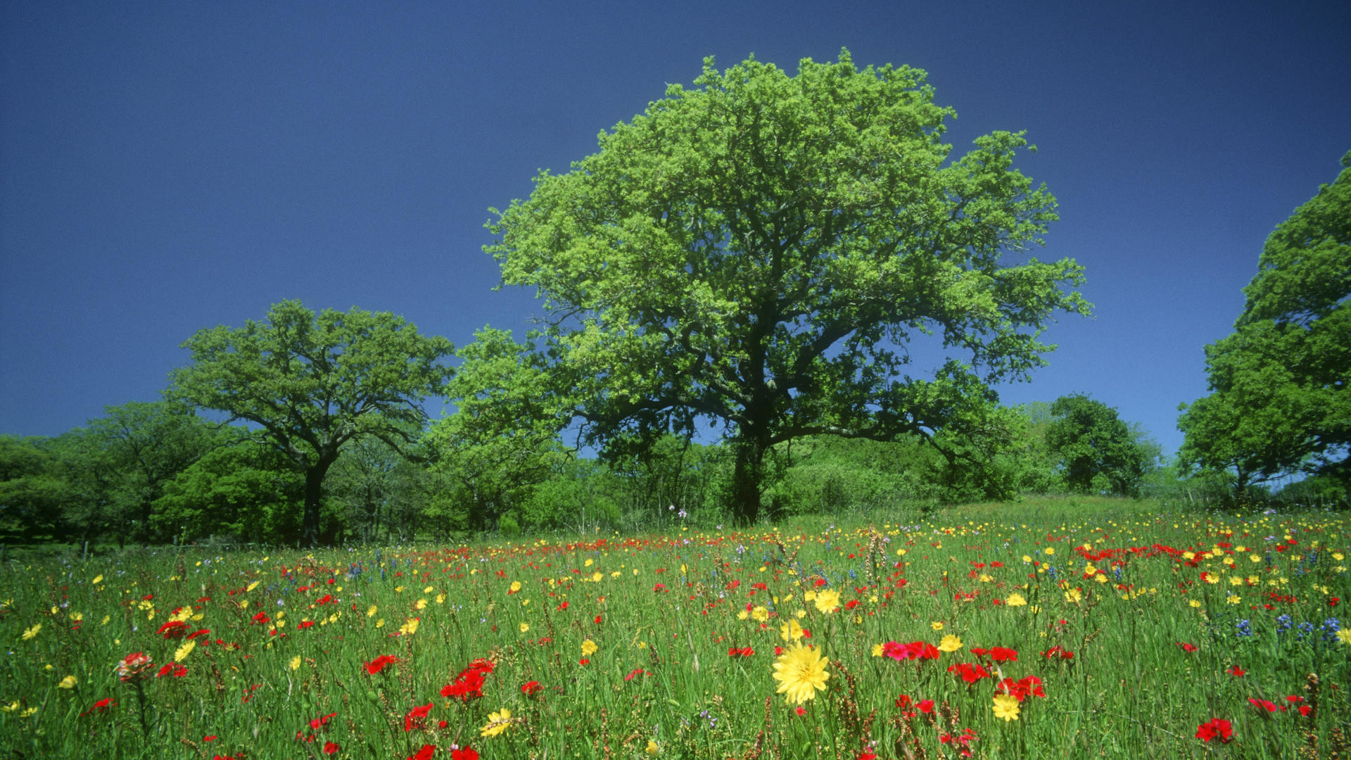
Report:
[[[1000,404],[1046,364],[1047,322],[1090,312],[1084,270],[1031,256],[1056,219],[1013,166],[1035,147],[1000,131],[950,160],[954,112],[924,80],[847,51],[796,76],[707,60],[492,210],[503,284],[540,299],[524,342],[485,327],[455,350],[388,312],[284,302],[190,337],[162,403],[3,438],[0,514],[315,545],[1139,494],[1158,448],[1116,410]],[[1344,494],[1347,179],[1267,242],[1235,335],[1206,349],[1213,394],[1183,410],[1174,479],[1248,498],[1297,472]],[[430,422],[434,396],[455,411]]]

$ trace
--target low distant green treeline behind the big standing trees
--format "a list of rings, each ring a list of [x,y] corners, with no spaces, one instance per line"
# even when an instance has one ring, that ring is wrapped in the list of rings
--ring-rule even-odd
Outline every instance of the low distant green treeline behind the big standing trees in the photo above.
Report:
[[[774,452],[770,518],[902,513],[1024,492],[1223,498],[1215,477],[1179,479],[1158,446],[1085,396],[1019,407],[1017,435],[982,452],[984,467],[919,438],[807,437]],[[667,435],[642,453],[600,461],[549,441],[515,458],[440,449],[444,421],[400,453],[378,438],[343,448],[324,480],[327,544],[450,538],[474,531],[646,530],[730,521],[723,445]],[[1309,491],[1312,481],[1297,484]],[[0,437],[5,542],[296,544],[305,479],[255,430],[218,425],[170,402],[109,407],[46,438]]]

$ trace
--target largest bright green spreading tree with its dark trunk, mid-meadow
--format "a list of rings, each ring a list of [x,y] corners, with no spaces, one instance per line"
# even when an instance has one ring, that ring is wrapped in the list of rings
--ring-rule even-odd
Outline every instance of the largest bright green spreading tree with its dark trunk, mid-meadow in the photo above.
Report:
[[[755,519],[766,454],[807,434],[979,429],[1024,379],[1082,269],[1028,257],[1055,199],[1012,168],[1021,134],[947,162],[924,72],[704,64],[489,224],[503,283],[550,312],[546,350],[592,442],[720,425]],[[904,373],[908,345],[944,360]]]

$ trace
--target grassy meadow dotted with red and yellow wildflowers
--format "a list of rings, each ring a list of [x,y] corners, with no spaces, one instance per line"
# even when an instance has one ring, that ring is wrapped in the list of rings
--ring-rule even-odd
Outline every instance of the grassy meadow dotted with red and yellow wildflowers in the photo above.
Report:
[[[5,757],[1351,757],[1346,514],[870,525],[0,571]]]

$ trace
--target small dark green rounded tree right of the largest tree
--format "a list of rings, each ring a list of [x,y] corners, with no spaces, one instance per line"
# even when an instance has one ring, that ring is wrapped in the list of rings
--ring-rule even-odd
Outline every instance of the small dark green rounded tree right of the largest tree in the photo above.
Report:
[[[1117,417],[1115,408],[1082,394],[1051,404],[1046,445],[1061,457],[1066,485],[1081,494],[1138,496],[1154,469],[1158,445]]]

